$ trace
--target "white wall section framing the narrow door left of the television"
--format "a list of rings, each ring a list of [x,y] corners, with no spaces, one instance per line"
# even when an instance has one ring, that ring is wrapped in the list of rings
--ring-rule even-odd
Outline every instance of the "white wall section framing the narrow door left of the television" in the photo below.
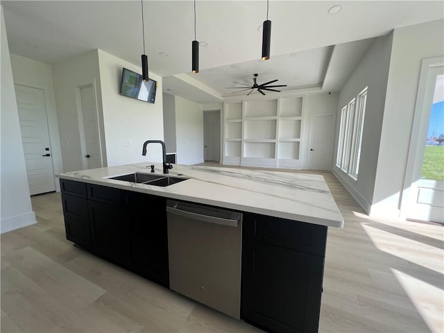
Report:
[[[101,83],[99,76],[99,58],[92,51],[73,59],[53,65],[54,93],[60,132],[60,147],[64,171],[83,169],[83,152],[79,132],[79,100],[78,87],[92,85],[96,92],[99,123],[102,123]],[[99,126],[100,127],[100,126]],[[102,155],[106,161],[103,128],[100,128],[103,143]]]

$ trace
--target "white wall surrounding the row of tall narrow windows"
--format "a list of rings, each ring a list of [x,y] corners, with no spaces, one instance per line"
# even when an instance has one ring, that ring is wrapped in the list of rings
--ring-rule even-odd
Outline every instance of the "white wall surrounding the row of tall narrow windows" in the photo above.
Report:
[[[392,35],[377,38],[370,46],[364,58],[355,68],[352,75],[339,92],[338,108],[336,109],[336,132],[334,140],[332,171],[343,185],[355,196],[357,201],[368,212],[373,201],[373,188],[379,151],[379,135],[381,133],[388,67],[391,57]],[[336,148],[339,137],[341,108],[368,86],[364,131],[362,133],[361,158],[359,175],[353,180],[341,171],[336,164]]]

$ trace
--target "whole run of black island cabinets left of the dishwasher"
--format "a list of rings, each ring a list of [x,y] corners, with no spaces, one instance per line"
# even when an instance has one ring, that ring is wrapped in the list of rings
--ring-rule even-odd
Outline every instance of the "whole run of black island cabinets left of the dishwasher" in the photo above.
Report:
[[[67,239],[169,287],[166,199],[60,180]]]

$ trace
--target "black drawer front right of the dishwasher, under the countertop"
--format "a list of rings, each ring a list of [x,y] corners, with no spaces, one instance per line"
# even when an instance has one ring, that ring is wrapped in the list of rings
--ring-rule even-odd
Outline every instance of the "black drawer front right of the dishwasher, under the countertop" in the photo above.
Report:
[[[324,257],[327,227],[259,214],[244,214],[244,238]]]

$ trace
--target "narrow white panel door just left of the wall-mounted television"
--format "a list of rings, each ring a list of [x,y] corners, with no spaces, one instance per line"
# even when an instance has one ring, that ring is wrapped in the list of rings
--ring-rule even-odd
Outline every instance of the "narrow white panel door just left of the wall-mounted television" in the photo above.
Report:
[[[83,159],[86,169],[102,167],[99,126],[97,121],[96,101],[92,85],[80,88],[80,100],[83,117],[84,148]]]

